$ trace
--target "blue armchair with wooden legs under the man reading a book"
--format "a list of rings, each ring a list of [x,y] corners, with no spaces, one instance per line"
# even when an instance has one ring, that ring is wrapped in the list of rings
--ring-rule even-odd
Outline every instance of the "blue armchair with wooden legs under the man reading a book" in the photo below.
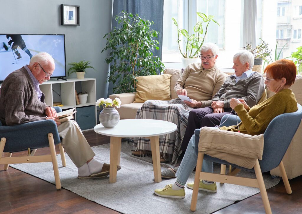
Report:
[[[60,107],[55,109],[56,112],[62,112]],[[52,162],[56,189],[61,189],[55,145],[59,144],[63,167],[66,166],[66,160],[55,121],[43,120],[14,126],[0,123],[0,138],[0,164],[5,164],[4,170],[8,169],[9,164]],[[36,150],[43,147],[50,148],[50,155],[34,156]],[[11,157],[13,152],[24,150],[28,150],[27,156]],[[7,157],[2,157],[4,152],[8,152]]]

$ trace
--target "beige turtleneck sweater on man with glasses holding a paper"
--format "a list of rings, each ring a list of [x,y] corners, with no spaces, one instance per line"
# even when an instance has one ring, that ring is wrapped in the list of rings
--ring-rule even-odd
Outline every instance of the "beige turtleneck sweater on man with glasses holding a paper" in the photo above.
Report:
[[[204,69],[201,63],[189,64],[177,80],[174,90],[186,89],[188,97],[201,101],[201,107],[210,106],[213,96],[220,89],[226,75],[220,71],[216,63],[210,69]]]

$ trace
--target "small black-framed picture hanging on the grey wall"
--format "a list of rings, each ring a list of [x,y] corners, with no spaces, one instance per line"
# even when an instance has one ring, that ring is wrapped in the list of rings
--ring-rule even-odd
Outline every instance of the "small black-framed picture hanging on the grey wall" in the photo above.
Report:
[[[61,25],[80,25],[79,5],[61,5]]]

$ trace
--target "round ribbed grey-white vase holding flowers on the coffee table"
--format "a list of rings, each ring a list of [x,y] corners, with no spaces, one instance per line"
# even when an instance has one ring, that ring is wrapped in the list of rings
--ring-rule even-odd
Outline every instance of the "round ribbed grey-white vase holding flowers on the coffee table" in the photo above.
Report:
[[[115,107],[104,107],[98,118],[105,128],[113,128],[120,121],[120,114]]]

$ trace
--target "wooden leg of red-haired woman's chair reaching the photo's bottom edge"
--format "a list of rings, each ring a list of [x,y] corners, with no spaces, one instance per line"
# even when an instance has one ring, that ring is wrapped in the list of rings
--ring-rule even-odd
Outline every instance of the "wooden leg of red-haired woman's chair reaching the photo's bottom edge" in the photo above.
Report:
[[[261,194],[261,197],[262,197],[265,213],[266,214],[271,214],[271,206],[269,204],[269,200],[268,200],[267,192],[266,192],[266,189],[265,189],[265,185],[264,185],[264,181],[263,181],[263,177],[262,177],[262,173],[261,173],[261,169],[260,169],[258,159],[256,160],[254,170],[255,170],[257,182],[258,182],[258,185],[259,185],[260,194]]]

